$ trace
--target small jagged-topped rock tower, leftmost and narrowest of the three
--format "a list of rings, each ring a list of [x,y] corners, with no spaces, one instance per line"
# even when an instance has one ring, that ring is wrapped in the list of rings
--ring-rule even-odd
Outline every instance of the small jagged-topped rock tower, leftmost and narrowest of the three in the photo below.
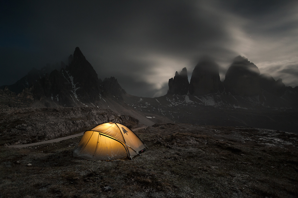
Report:
[[[167,94],[186,95],[188,92],[189,82],[187,69],[184,67],[180,74],[176,72],[175,77],[169,79],[169,90]]]

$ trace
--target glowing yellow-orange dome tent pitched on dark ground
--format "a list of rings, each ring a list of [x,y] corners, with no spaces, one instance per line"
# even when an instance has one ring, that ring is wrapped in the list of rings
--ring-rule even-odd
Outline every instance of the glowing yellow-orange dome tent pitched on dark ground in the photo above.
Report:
[[[133,158],[147,147],[130,129],[119,123],[103,123],[86,131],[72,154],[88,160]]]

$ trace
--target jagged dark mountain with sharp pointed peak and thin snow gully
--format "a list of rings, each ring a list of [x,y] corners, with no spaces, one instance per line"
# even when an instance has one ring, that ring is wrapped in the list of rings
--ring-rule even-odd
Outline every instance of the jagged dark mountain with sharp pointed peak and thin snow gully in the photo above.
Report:
[[[121,95],[126,94],[114,77],[105,79],[105,82],[99,79],[79,47],[73,56],[69,56],[69,65],[61,62],[61,65],[48,65],[41,70],[33,68],[17,83],[2,87],[16,94],[27,90],[32,101],[41,101],[46,107],[87,106],[86,103],[95,107],[102,95],[121,99]]]

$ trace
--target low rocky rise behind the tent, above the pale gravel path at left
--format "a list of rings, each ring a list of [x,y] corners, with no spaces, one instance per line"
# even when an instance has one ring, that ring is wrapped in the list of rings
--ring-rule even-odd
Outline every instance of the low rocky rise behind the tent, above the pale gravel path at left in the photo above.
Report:
[[[51,140],[109,121],[128,125],[130,121],[137,122],[130,116],[94,107],[0,109],[0,145]]]

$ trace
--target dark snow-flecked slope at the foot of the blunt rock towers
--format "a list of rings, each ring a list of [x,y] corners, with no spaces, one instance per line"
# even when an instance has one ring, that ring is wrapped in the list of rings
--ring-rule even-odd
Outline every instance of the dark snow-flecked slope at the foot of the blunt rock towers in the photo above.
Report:
[[[227,101],[236,98],[239,103],[235,100],[233,102],[236,102],[236,105],[231,101],[232,105],[224,104],[221,100],[223,98]],[[202,96],[188,94],[140,98],[127,94],[123,99],[128,105],[151,117],[150,119],[155,122],[158,120],[154,117],[159,115],[176,123],[195,125],[247,126],[292,133],[297,133],[298,128],[297,108],[271,108],[257,105],[260,103],[259,96],[243,98],[223,94]],[[241,107],[238,106],[240,101],[243,102]],[[255,106],[252,107],[251,103],[255,103]]]

